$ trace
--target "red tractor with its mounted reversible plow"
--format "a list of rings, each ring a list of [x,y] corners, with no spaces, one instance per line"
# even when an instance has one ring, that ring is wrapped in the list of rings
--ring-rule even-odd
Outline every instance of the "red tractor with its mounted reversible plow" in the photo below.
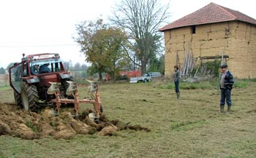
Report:
[[[61,106],[73,104],[78,116],[79,103],[92,103],[95,117],[102,111],[97,84],[90,82],[91,98],[79,100],[76,83],[57,53],[23,54],[21,62],[9,69],[9,75],[15,103],[28,111],[38,111],[47,105],[56,108],[59,114]]]

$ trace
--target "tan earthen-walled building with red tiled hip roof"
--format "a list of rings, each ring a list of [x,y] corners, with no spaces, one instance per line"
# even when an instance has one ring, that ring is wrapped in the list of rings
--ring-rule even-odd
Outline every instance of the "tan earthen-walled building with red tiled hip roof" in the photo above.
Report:
[[[159,28],[165,36],[165,76],[182,66],[186,51],[195,58],[227,55],[227,64],[238,78],[256,78],[256,20],[218,4],[208,4]]]

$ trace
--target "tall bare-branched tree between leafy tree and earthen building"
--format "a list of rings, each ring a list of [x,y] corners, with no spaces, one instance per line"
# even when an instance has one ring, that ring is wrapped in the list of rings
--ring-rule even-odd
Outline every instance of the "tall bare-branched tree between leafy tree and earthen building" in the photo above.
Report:
[[[161,49],[162,35],[158,28],[169,16],[168,9],[169,3],[163,7],[160,0],[122,0],[113,8],[110,21],[129,33],[127,55],[141,67],[142,73],[146,72],[148,61]]]

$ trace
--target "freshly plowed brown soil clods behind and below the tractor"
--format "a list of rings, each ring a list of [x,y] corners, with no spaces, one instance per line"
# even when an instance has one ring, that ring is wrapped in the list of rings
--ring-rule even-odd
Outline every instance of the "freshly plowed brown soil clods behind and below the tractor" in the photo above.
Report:
[[[138,125],[125,125],[118,120],[110,121],[102,115],[99,122],[89,119],[87,109],[74,118],[69,111],[54,116],[51,109],[39,114],[24,111],[15,104],[0,103],[0,135],[13,135],[23,139],[36,139],[52,136],[56,139],[69,139],[78,134],[117,135],[118,130],[150,130]]]

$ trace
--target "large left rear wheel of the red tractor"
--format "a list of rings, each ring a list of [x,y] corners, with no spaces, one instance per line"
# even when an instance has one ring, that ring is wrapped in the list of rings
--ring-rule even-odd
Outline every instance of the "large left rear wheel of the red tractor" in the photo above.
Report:
[[[23,87],[20,93],[23,108],[27,111],[37,111],[39,109],[39,100],[37,87],[33,84],[23,82]]]

